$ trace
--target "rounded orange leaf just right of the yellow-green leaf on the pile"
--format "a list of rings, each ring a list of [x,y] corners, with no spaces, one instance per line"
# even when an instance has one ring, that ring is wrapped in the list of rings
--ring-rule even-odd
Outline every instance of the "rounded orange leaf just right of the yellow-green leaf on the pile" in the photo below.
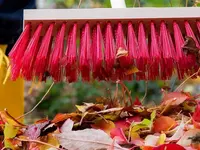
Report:
[[[155,119],[152,130],[155,133],[161,133],[162,131],[169,131],[176,126],[176,121],[168,116],[161,116]]]

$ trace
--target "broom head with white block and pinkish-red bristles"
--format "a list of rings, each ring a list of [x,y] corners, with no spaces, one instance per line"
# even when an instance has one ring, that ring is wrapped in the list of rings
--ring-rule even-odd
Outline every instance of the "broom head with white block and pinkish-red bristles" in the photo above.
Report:
[[[181,80],[199,68],[183,51],[185,36],[200,48],[199,14],[198,7],[25,10],[11,79],[168,80],[177,72]]]

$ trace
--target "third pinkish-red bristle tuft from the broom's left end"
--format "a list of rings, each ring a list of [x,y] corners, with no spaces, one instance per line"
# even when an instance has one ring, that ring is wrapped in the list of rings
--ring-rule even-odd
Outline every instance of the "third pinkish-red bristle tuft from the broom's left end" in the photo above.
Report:
[[[42,43],[37,54],[34,64],[34,75],[39,77],[39,80],[43,80],[44,73],[47,71],[47,64],[49,61],[49,52],[51,50],[51,37],[53,33],[54,23],[51,23],[47,29],[47,32],[42,39]]]

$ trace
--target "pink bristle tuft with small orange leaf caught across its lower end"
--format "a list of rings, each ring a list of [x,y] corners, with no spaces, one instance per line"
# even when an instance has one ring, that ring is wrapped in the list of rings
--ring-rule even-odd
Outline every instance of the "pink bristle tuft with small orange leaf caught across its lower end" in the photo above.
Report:
[[[128,31],[127,31],[127,47],[128,47],[128,64],[130,66],[135,65],[134,60],[138,55],[138,41],[135,35],[135,30],[131,22],[128,23]],[[133,79],[133,75],[129,76],[129,80]]]

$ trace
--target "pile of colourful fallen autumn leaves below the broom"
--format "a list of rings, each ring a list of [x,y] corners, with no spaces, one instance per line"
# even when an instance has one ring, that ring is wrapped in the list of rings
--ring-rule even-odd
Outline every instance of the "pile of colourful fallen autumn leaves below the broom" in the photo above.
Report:
[[[0,112],[1,149],[200,149],[200,102],[184,92],[164,92],[159,106],[99,98],[76,112],[24,125]]]

